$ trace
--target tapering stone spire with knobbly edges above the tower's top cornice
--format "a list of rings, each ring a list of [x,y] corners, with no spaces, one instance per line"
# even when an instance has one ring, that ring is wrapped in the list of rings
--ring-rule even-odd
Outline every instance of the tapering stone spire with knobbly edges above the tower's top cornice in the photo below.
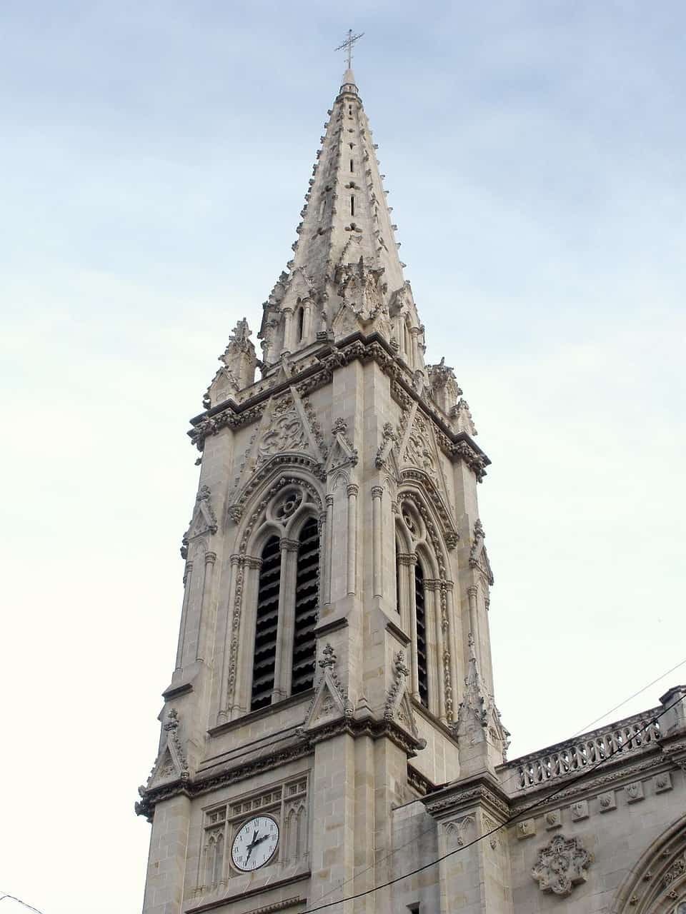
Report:
[[[264,303],[259,337],[267,369],[284,351],[315,343],[317,334],[338,340],[355,330],[377,331],[389,342],[395,338],[402,351],[397,337],[407,332],[399,314],[415,335],[421,326],[352,69],[328,114],[295,256]],[[423,352],[423,340],[413,346],[413,368],[423,367],[418,348]]]

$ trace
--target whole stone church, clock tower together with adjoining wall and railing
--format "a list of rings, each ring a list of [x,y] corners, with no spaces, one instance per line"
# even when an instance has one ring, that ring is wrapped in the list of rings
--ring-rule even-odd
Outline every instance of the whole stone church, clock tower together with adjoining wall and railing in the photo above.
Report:
[[[683,686],[507,760],[489,461],[381,178],[348,69],[260,357],[240,321],[191,420],[144,914],[686,914]]]

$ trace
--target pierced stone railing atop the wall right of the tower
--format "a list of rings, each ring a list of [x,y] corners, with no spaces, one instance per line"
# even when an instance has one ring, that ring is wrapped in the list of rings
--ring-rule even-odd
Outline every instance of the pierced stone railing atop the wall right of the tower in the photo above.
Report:
[[[557,743],[509,761],[509,771],[515,772],[512,778],[514,789],[524,791],[538,787],[554,778],[561,778],[609,759],[610,756],[624,757],[655,745],[660,734],[659,723],[653,721],[653,718],[662,710],[662,707],[654,707],[633,717],[617,720],[607,727],[583,733],[573,742]]]

